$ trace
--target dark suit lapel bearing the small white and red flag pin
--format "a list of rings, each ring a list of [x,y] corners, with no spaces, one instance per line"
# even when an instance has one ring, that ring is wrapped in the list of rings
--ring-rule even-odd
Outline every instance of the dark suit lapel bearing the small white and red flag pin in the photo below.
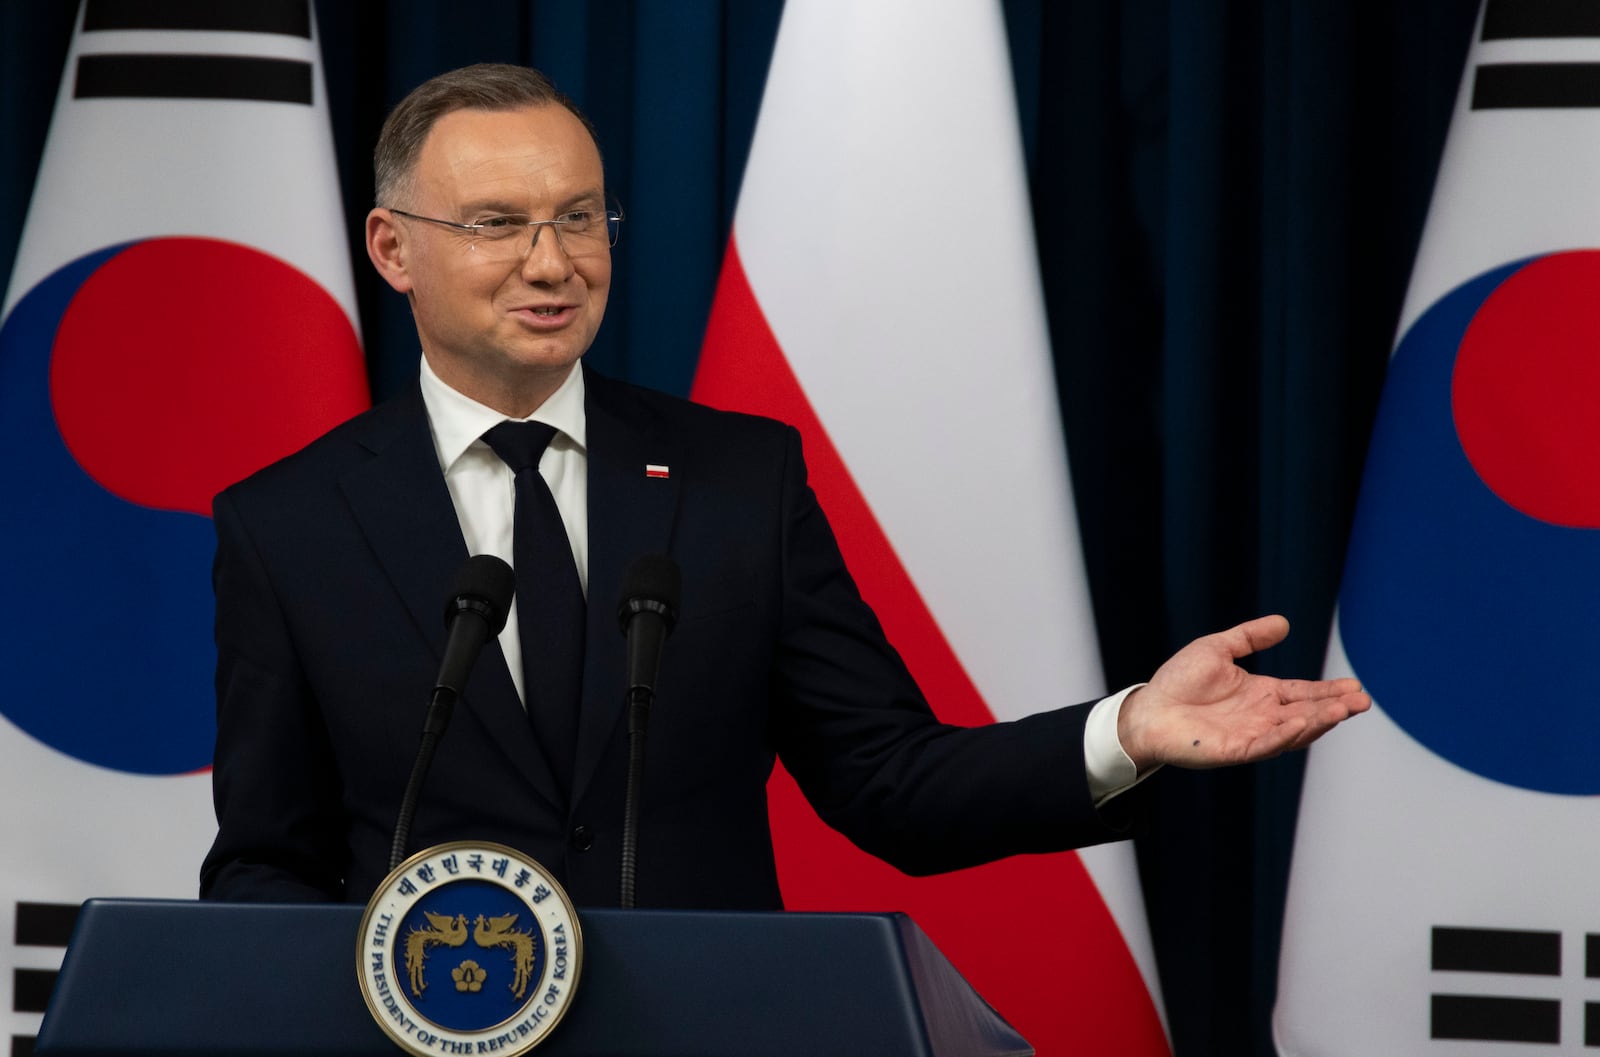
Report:
[[[589,624],[584,704],[578,728],[573,803],[582,796],[606,745],[626,737],[626,651],[616,609],[622,580],[638,558],[666,553],[683,467],[656,413],[626,387],[584,373],[589,433]],[[646,467],[666,467],[651,477]]]

